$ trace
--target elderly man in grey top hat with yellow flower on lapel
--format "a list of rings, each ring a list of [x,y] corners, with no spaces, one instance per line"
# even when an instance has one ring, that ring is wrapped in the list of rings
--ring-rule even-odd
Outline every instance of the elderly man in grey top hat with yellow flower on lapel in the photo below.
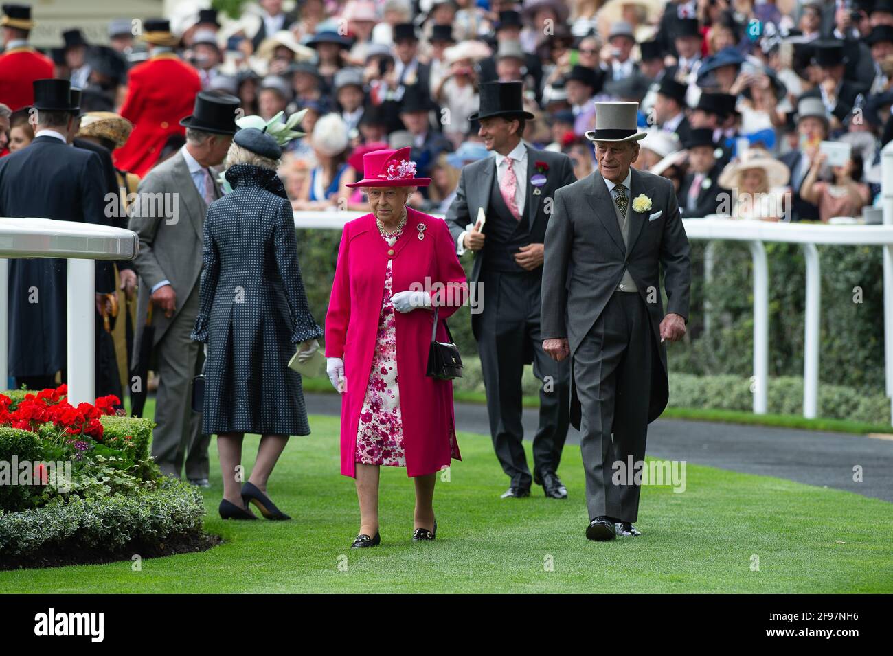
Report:
[[[546,230],[543,350],[571,357],[590,540],[640,535],[632,525],[636,473],[647,425],[669,396],[663,342],[685,335],[689,314],[689,239],[672,182],[630,168],[644,137],[637,110],[596,104],[596,129],[586,137],[596,143],[598,170],[556,192]]]

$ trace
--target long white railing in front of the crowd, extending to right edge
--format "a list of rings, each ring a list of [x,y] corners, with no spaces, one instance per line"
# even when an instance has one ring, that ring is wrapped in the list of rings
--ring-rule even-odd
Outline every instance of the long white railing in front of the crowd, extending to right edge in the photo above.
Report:
[[[890,142],[889,146],[893,145]],[[754,412],[765,414],[769,390],[769,263],[764,244],[778,242],[803,246],[806,260],[804,318],[803,415],[818,414],[819,319],[821,267],[816,245],[876,245],[884,249],[884,353],[886,394],[893,397],[893,150],[884,149],[884,225],[837,226],[753,220],[684,219],[689,239],[730,240],[747,243],[754,262]],[[341,229],[368,212],[295,212],[295,228]],[[433,216],[441,215],[434,214]],[[715,268],[716,263],[713,262]],[[893,399],[890,404],[893,423]]]

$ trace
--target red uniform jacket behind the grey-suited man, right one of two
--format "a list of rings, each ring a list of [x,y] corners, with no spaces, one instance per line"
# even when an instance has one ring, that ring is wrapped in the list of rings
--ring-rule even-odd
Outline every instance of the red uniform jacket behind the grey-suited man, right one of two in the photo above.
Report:
[[[115,166],[144,177],[168,137],[186,132],[179,120],[192,113],[201,89],[198,73],[175,54],[158,54],[134,66],[121,105],[121,116],[133,123],[133,132],[114,152]]]

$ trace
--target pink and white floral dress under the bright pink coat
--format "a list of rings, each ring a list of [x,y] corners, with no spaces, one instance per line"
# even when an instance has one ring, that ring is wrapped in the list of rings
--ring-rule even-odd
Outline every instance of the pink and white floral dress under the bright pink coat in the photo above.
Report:
[[[389,246],[403,234],[381,237]],[[356,462],[365,465],[405,467],[403,419],[400,417],[400,389],[396,378],[396,315],[390,301],[393,289],[391,263],[385,270],[385,289],[381,299],[379,328],[375,337],[375,353],[360,422],[356,434]]]

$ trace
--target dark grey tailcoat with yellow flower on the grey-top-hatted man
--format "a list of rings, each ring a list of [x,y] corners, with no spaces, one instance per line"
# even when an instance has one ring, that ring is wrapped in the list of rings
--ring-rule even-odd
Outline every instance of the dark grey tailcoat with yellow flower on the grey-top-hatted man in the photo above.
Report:
[[[688,320],[691,262],[672,181],[635,169],[631,176],[633,206],[638,195],[644,194],[651,199],[651,207],[645,212],[630,208],[628,246],[623,245],[613,198],[598,171],[555,194],[555,214],[546,230],[540,330],[543,339],[566,337],[573,358],[620,284],[623,270],[629,270],[645,299],[659,354],[659,363],[651,367],[650,422],[663,412],[669,398],[666,348],[660,341],[661,269],[666,311]],[[573,380],[571,401],[571,423],[580,428],[580,401]]]

